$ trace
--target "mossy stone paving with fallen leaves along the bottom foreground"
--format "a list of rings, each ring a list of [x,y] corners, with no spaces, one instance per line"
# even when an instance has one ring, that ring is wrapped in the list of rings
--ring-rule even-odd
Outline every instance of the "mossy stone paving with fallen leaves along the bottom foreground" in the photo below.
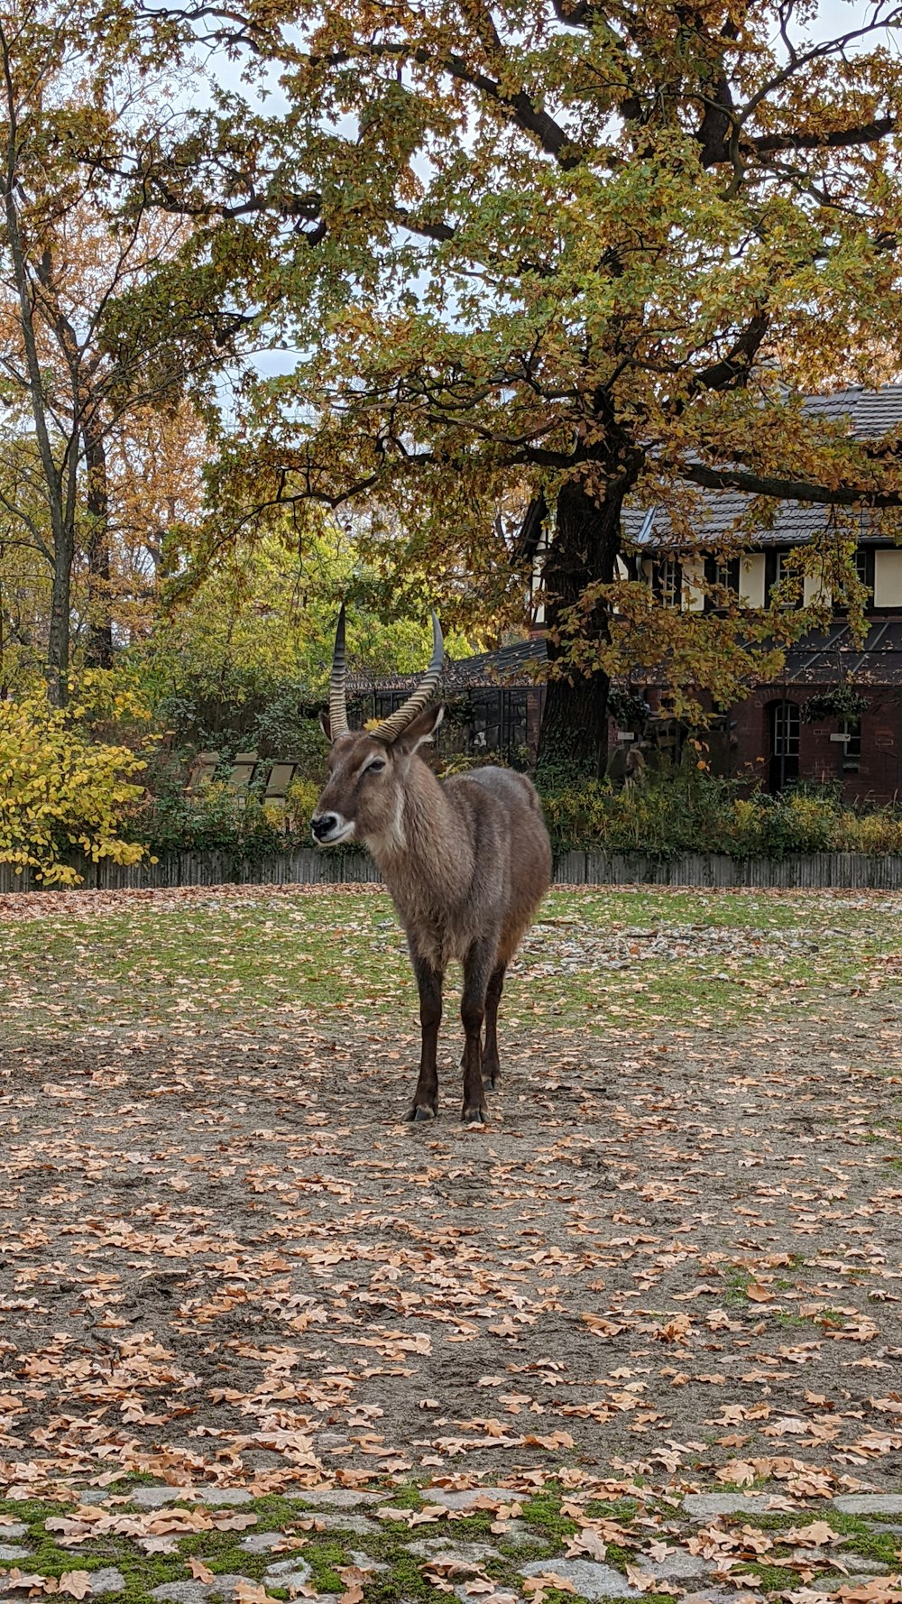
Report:
[[[242,1487],[135,1485],[74,1497],[72,1519],[53,1516],[43,1530],[40,1516],[14,1519],[14,1500],[0,1505],[8,1511],[0,1513],[2,1594],[16,1599],[59,1591],[128,1604],[148,1598],[159,1604],[286,1598],[414,1604],[432,1585],[462,1604],[541,1604],[546,1594],[587,1604],[637,1598],[650,1604],[666,1604],[666,1598],[745,1604],[753,1588],[756,1598],[788,1604],[819,1604],[833,1594],[839,1604],[902,1601],[902,1524],[886,1522],[886,1516],[902,1516],[902,1495],[896,1493],[802,1501],[786,1498],[778,1485],[753,1493],[687,1492],[682,1498],[672,1490],[636,1487],[631,1500],[557,1485],[542,1487],[541,1498],[517,1487],[299,1489],[297,1498],[278,1500],[281,1524],[270,1527],[265,1517],[273,1501],[255,1500]],[[59,1503],[48,1505],[48,1514],[51,1509]],[[95,1511],[95,1522],[109,1511],[114,1525],[119,1521],[130,1529],[132,1522],[140,1532],[141,1521],[175,1522],[178,1532],[178,1521],[191,1521],[197,1511],[199,1530],[138,1537],[133,1553],[119,1538],[111,1548],[109,1535],[93,1538],[91,1532],[93,1540],[85,1540],[66,1530],[56,1540],[66,1556],[61,1569],[48,1557],[47,1541],[59,1527],[79,1527],[79,1509],[85,1516]],[[218,1519],[233,1527],[258,1522],[258,1529],[210,1532],[204,1509],[244,1511]],[[480,1535],[473,1535],[477,1524]],[[151,1554],[154,1546],[162,1549],[165,1557],[156,1562],[170,1572],[162,1580],[146,1574],[141,1545]],[[767,1551],[761,1574],[754,1570],[758,1551]]]

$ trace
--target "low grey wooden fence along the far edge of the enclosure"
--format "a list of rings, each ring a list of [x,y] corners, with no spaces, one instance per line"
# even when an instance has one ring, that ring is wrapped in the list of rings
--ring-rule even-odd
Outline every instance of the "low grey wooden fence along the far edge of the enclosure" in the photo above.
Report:
[[[379,882],[363,853],[327,853],[300,847],[274,858],[241,861],[223,852],[173,852],[159,863],[120,868],[79,863],[90,890],[172,885],[321,885]],[[727,858],[685,852],[668,861],[642,853],[563,852],[555,861],[559,885],[750,885],[761,889],[851,887],[902,890],[902,855],[811,852],[785,858]],[[40,890],[32,876],[0,865],[0,892]]]

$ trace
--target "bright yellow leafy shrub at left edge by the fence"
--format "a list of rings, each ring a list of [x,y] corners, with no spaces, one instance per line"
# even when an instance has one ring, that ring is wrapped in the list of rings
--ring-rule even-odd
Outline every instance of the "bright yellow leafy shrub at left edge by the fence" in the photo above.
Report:
[[[143,796],[130,776],[144,768],[124,746],[104,746],[42,695],[0,703],[0,863],[34,869],[45,885],[80,885],[63,861],[138,863],[144,847],[122,840],[128,808]]]

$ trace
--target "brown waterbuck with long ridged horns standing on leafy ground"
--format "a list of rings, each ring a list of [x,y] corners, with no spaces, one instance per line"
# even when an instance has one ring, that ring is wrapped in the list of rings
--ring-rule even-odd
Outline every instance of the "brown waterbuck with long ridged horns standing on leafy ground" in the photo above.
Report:
[[[329,780],[311,829],[321,847],[351,839],[368,847],[408,937],[422,1027],[408,1120],[438,1113],[441,986],[451,959],[464,966],[462,1120],[475,1124],[485,1123],[485,1089],[494,1089],[499,1076],[496,1022],[504,970],[551,884],[551,842],[525,775],[472,768],[440,781],[419,755],[445,712],[440,704],[429,706],[445,658],[435,613],[432,632],[432,661],[404,706],[372,731],[350,730],[342,608],[329,717],[323,717],[332,743]]]

